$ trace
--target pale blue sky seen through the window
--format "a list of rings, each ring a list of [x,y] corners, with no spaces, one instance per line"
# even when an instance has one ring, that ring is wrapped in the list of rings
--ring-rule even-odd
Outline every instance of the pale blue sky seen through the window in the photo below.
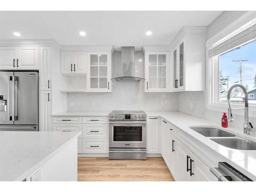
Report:
[[[243,86],[248,84],[248,90],[252,90],[256,74],[256,40],[220,55],[220,70],[224,77],[229,76],[229,87],[236,84],[236,81],[240,83],[239,62],[232,61],[240,58],[248,60],[242,61]]]

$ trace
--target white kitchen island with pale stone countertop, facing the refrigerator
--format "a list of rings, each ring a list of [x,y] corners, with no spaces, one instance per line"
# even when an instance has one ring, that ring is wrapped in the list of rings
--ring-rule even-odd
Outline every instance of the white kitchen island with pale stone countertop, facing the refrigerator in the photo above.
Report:
[[[0,132],[0,181],[77,181],[80,132]]]

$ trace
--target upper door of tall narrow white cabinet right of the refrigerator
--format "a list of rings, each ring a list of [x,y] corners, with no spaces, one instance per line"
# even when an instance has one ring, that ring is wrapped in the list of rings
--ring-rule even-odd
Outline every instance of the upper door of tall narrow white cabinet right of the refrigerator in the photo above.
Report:
[[[51,47],[40,46],[40,90],[51,90]]]

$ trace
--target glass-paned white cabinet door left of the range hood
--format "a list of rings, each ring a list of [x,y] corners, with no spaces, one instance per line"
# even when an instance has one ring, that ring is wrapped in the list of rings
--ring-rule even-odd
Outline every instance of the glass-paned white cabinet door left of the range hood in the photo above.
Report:
[[[111,52],[88,52],[88,92],[111,92]]]

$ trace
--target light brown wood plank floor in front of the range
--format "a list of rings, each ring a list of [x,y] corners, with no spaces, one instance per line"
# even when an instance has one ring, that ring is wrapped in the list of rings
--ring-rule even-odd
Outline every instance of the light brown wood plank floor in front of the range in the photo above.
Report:
[[[109,160],[78,157],[78,181],[174,181],[163,158]]]

